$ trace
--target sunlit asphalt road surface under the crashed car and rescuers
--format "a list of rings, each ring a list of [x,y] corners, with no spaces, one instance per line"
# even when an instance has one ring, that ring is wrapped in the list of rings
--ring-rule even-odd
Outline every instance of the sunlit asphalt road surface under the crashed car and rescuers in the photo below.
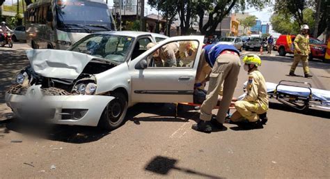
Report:
[[[3,100],[10,77],[26,65],[25,45],[0,47],[0,178],[329,178],[330,112],[306,114],[271,100],[262,129],[203,134],[198,111],[174,117],[174,105],[137,104],[111,132],[94,127],[26,127],[10,120]],[[248,52],[252,53],[252,52]],[[246,54],[246,52],[244,52]],[[292,56],[262,56],[269,82],[310,82],[330,91],[330,64],[311,61],[312,79],[288,77]],[[303,75],[301,65],[298,75]],[[242,94],[242,69],[235,96]],[[232,111],[233,112],[233,111]],[[216,110],[214,110],[216,114]]]

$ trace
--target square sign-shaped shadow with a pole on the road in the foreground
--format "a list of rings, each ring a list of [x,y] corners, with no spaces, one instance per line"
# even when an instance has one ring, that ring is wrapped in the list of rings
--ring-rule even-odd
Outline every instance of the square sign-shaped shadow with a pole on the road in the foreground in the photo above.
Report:
[[[199,178],[221,178],[219,176],[213,176],[207,173],[202,173],[199,171],[194,171],[191,169],[181,168],[178,166],[175,166],[175,164],[178,162],[178,159],[172,159],[168,157],[163,156],[156,156],[154,157],[145,167],[146,171],[150,171],[152,173],[158,173],[163,176],[168,175],[169,171],[175,170],[184,172],[187,175],[194,175]]]

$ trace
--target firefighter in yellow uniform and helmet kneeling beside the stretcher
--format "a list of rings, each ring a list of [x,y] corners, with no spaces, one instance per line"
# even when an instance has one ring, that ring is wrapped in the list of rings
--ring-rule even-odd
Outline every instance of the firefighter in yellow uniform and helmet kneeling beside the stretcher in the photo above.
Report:
[[[258,70],[261,65],[261,59],[256,54],[244,56],[244,70],[249,74],[249,81],[246,85],[246,96],[243,100],[235,102],[237,111],[231,116],[232,122],[248,120],[248,122],[260,122],[262,114],[262,123],[267,122],[265,116],[269,107],[267,97],[267,87],[265,78]]]

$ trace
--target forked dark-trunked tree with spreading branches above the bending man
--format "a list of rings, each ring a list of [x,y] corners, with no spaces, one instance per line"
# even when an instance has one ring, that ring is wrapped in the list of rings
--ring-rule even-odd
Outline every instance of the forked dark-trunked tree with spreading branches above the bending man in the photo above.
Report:
[[[244,10],[248,5],[262,9],[268,5],[270,0],[198,0],[197,2],[195,8],[199,17],[199,30],[202,34],[210,36],[233,8]],[[206,23],[204,23],[205,15],[208,17]]]

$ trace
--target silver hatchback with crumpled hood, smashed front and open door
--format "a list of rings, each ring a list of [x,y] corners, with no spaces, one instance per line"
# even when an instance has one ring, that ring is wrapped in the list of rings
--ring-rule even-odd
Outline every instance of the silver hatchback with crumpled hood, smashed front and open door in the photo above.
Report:
[[[148,34],[95,33],[68,51],[29,50],[30,65],[13,80],[6,103],[18,118],[42,114],[49,123],[113,130],[137,102],[193,102],[203,36],[167,38],[148,50],[147,38],[155,42]],[[177,66],[156,65],[157,50],[187,42],[194,53],[181,53]]]

